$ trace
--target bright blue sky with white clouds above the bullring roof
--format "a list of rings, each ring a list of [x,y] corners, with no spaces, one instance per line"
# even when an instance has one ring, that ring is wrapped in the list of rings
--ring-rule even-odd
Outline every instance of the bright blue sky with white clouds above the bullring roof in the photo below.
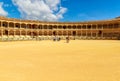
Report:
[[[0,15],[11,18],[33,20],[35,19],[43,21],[63,21],[63,22],[104,20],[120,16],[120,0],[26,0],[26,1],[21,0],[21,1],[0,0],[0,3],[2,4],[1,5],[2,10],[4,10],[7,13],[7,15],[4,15],[2,14],[1,11]],[[26,5],[27,1],[28,3],[29,2],[31,3]]]

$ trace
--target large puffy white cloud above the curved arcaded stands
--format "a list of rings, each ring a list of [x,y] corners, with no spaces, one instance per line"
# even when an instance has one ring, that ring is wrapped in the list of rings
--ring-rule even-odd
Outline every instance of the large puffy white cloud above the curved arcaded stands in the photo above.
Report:
[[[18,7],[22,18],[58,21],[63,18],[67,8],[61,7],[61,0],[12,0]]]

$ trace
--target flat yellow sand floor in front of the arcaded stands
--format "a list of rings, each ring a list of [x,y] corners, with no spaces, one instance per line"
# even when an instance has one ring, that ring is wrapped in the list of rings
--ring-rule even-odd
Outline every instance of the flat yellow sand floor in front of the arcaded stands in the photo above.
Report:
[[[0,42],[0,81],[120,81],[120,41]]]

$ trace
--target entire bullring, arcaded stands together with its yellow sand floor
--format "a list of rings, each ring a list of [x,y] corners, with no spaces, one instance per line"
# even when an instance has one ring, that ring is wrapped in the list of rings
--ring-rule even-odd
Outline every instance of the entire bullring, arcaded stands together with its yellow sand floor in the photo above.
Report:
[[[1,17],[0,81],[120,81],[119,36],[119,18],[68,23]]]

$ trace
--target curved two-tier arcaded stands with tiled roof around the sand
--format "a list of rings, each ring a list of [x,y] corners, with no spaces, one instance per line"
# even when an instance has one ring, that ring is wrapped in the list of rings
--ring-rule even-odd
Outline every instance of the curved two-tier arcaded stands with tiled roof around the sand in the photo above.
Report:
[[[0,17],[0,41],[65,39],[118,40],[120,18],[86,22],[43,22]]]

